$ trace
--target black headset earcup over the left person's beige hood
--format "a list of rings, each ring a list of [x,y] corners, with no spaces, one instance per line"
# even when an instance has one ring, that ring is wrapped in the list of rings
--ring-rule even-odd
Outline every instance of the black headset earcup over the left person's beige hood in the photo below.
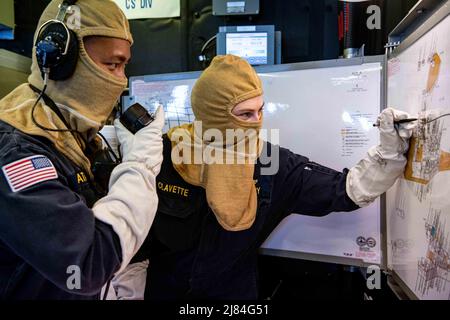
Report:
[[[56,19],[45,22],[38,31],[35,42],[36,59],[44,82],[65,80],[75,72],[79,43],[77,35],[65,24],[71,8],[77,1],[65,0],[59,6]]]

